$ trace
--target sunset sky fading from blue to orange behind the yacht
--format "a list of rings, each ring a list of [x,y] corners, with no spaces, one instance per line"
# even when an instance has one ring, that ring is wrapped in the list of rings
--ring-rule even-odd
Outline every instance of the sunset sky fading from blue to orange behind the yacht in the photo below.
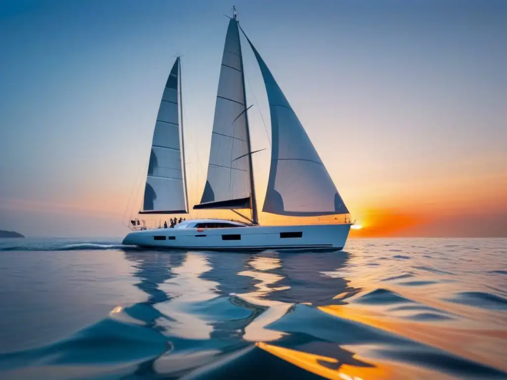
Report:
[[[222,14],[232,4],[2,1],[0,229],[125,235],[176,53],[183,54],[190,201],[200,199]],[[356,235],[507,236],[507,2],[234,4],[364,225]],[[268,148],[254,156],[262,204],[269,108],[242,43],[252,149]]]

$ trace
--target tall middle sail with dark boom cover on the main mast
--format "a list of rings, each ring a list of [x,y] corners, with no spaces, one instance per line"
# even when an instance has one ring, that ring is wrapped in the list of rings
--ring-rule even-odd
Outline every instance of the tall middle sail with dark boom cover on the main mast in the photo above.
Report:
[[[250,207],[250,170],[243,63],[237,21],[231,19],[216,94],[206,184],[194,208]]]

